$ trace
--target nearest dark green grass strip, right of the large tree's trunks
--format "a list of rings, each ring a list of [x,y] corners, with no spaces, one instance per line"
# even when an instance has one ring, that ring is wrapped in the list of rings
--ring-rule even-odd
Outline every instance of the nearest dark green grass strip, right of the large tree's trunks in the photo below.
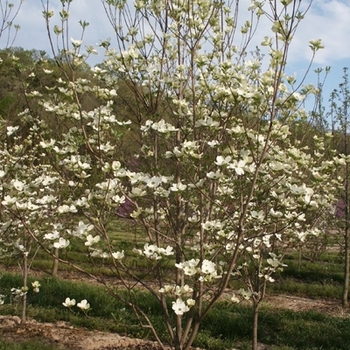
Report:
[[[224,344],[249,342],[252,311],[247,306],[218,304],[203,322],[211,339],[223,339]],[[349,349],[350,320],[318,312],[293,312],[262,308],[259,316],[259,341],[292,349]],[[200,341],[201,338],[197,340]],[[207,344],[200,343],[206,347]]]

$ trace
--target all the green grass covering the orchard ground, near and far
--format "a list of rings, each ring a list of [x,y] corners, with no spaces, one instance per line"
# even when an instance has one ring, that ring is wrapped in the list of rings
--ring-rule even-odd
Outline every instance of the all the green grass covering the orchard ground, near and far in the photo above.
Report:
[[[141,245],[137,232],[125,234],[115,231],[113,240],[119,246],[129,249]],[[84,247],[75,246],[69,259],[77,262],[95,274],[112,276],[106,262],[92,266],[86,260]],[[67,256],[68,257],[68,256]],[[286,256],[288,265],[276,276],[275,283],[269,284],[268,294],[288,294],[311,299],[338,299],[342,291],[343,265],[338,252],[326,252],[318,261],[298,260],[297,253]],[[13,273],[15,259],[9,258],[1,265],[0,294],[6,295],[0,306],[2,315],[19,315],[19,305],[12,299],[9,290],[21,286],[21,276]],[[92,283],[81,283],[60,279],[60,274],[69,276],[73,270],[60,265],[58,278],[50,277],[52,258],[39,251],[32,264],[34,272],[40,272],[40,293],[28,294],[28,316],[41,322],[68,321],[74,326],[91,330],[102,330],[127,334],[131,337],[152,338],[151,332],[138,325],[132,310],[108,293],[105,288]],[[12,271],[12,272],[7,272]],[[37,278],[35,278],[37,279]],[[34,278],[31,278],[29,283]],[[232,288],[239,288],[233,284]],[[118,293],[123,293],[119,291]],[[91,309],[86,316],[79,309],[67,310],[62,302],[66,297],[77,301],[87,299]],[[166,342],[168,335],[162,319],[161,308],[156,299],[143,290],[134,293],[133,298],[145,311]],[[208,350],[224,350],[233,346],[250,348],[252,333],[252,308],[249,304],[218,303],[204,320],[194,346]],[[348,350],[350,344],[350,318],[317,312],[317,310],[292,311],[263,305],[259,316],[259,341],[270,345],[273,350]],[[55,350],[33,341],[24,344],[0,341],[0,350]]]

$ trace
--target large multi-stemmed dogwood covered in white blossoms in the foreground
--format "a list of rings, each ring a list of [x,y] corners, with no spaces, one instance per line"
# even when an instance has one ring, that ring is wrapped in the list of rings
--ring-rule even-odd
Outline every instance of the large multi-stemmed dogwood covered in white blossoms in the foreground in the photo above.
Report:
[[[53,28],[59,37],[72,1],[62,3],[62,26]],[[43,247],[64,249],[81,239],[92,260],[109,259],[130,293],[96,279],[132,306],[162,344],[133,298],[142,286],[159,301],[173,347],[189,349],[233,277],[245,278],[248,289],[240,295],[259,304],[283,264],[283,249],[311,231],[333,202],[332,174],[342,160],[324,161],[320,140],[310,150],[289,131],[307,118],[301,105],[315,91],[297,92],[295,78],[285,73],[307,9],[294,0],[253,1],[251,21],[240,27],[238,1],[103,5],[116,48],[102,42],[103,64],[92,69],[92,79],[81,79],[82,41],[64,40],[57,86],[46,96],[28,89],[64,132],[54,137],[47,119],[25,112],[38,138],[36,172],[24,176],[17,169],[22,185],[6,182],[11,195],[2,207]],[[248,54],[262,18],[272,27],[261,38],[268,58]],[[315,40],[310,48],[314,55],[322,44]],[[89,96],[96,103],[85,108]],[[8,170],[2,171],[5,177]],[[144,232],[132,251],[110,237],[121,208]],[[43,215],[46,221],[38,221]]]

